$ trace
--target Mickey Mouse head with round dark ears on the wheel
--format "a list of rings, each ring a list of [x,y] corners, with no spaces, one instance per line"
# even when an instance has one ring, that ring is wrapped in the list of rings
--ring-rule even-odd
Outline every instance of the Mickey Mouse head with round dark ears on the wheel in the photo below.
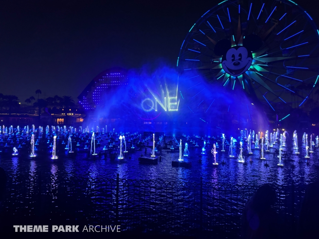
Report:
[[[221,65],[231,76],[240,76],[250,67],[253,55],[252,51],[262,46],[262,40],[257,35],[248,35],[243,39],[243,46],[231,47],[230,40],[220,40],[215,48],[216,55],[223,56]]]

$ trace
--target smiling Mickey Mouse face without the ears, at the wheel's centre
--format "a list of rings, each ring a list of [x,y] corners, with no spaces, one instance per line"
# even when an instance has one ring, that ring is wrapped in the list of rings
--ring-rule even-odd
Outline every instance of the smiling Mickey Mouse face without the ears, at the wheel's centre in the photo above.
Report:
[[[251,52],[249,53],[242,46],[230,48],[222,58],[221,64],[223,69],[232,76],[240,76],[251,65],[252,54]]]

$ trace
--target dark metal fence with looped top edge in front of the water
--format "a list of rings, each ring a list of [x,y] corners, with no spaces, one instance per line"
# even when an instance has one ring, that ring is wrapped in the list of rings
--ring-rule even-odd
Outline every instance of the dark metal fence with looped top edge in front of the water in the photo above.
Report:
[[[23,176],[21,176],[23,177]],[[9,177],[6,213],[47,216],[122,230],[237,238],[242,211],[257,186],[37,176]],[[295,235],[305,185],[274,185],[282,226]],[[62,225],[62,224],[60,224]]]

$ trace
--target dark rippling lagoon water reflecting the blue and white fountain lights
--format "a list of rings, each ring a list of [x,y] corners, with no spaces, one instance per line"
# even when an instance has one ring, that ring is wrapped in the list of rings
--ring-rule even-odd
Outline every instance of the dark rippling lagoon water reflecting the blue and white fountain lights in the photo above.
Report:
[[[7,217],[30,220],[34,217],[39,219],[40,215],[46,220],[81,220],[90,224],[121,221],[123,230],[141,227],[143,231],[152,228],[153,231],[174,234],[196,234],[194,228],[216,232],[215,227],[218,230],[222,227],[224,232],[233,231],[234,235],[238,235],[240,214],[258,185],[275,185],[278,212],[289,215],[286,221],[293,221],[292,218],[298,216],[303,186],[318,177],[318,148],[313,147],[314,153],[309,154],[307,162],[301,142],[300,154],[293,154],[291,138],[287,138],[283,150],[286,155],[284,166],[279,167],[277,154],[274,155],[278,143],[270,148],[270,152],[265,152],[266,160],[261,160],[261,145],[259,149],[252,148],[253,154],[248,155],[247,142],[244,142],[247,164],[229,158],[228,146],[227,153],[217,148],[219,165],[213,166],[211,147],[216,141],[221,145],[219,139],[193,136],[187,141],[184,136],[176,137],[178,141],[182,139],[182,145],[185,142],[189,144],[190,154],[184,157],[184,161],[191,162],[192,166],[185,169],[172,167],[172,161],[179,158],[174,140],[175,150],[169,149],[171,145],[168,144],[167,149],[155,152],[157,156],[161,155],[157,165],[144,165],[138,162],[138,157],[141,154],[151,155],[151,137],[127,133],[129,152],[123,154],[124,159],[111,159],[111,152],[119,154],[119,135],[97,133],[97,155],[92,156],[92,133],[72,133],[73,153],[64,149],[66,144],[63,141],[67,143],[69,134],[57,133],[57,159],[51,159],[52,134],[39,135],[35,132],[35,141],[38,139],[39,143],[35,145],[36,157],[29,156],[31,134],[1,135],[0,166],[8,177],[2,212]],[[144,146],[138,147],[138,141],[143,140],[146,154]],[[172,137],[166,137],[166,141],[170,140]],[[196,147],[190,140],[199,146]],[[206,144],[206,154],[203,155],[204,140],[210,143]],[[113,141],[115,145],[109,147]],[[79,146],[76,146],[78,142]],[[130,149],[132,143],[134,150]],[[19,145],[22,148],[18,148]],[[88,149],[84,149],[85,145]],[[104,146],[108,150],[103,150]],[[16,156],[11,155],[13,147],[19,150]],[[162,226],[157,221],[162,221]],[[167,223],[167,227],[163,223]]]

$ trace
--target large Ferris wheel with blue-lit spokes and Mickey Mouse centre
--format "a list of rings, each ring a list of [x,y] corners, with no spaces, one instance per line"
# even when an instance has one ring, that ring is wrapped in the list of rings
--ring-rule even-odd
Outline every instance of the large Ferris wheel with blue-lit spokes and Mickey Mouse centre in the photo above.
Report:
[[[226,0],[191,26],[177,69],[194,76],[199,72],[228,91],[241,88],[268,105],[280,121],[313,92],[319,78],[318,46],[319,30],[297,3]]]

